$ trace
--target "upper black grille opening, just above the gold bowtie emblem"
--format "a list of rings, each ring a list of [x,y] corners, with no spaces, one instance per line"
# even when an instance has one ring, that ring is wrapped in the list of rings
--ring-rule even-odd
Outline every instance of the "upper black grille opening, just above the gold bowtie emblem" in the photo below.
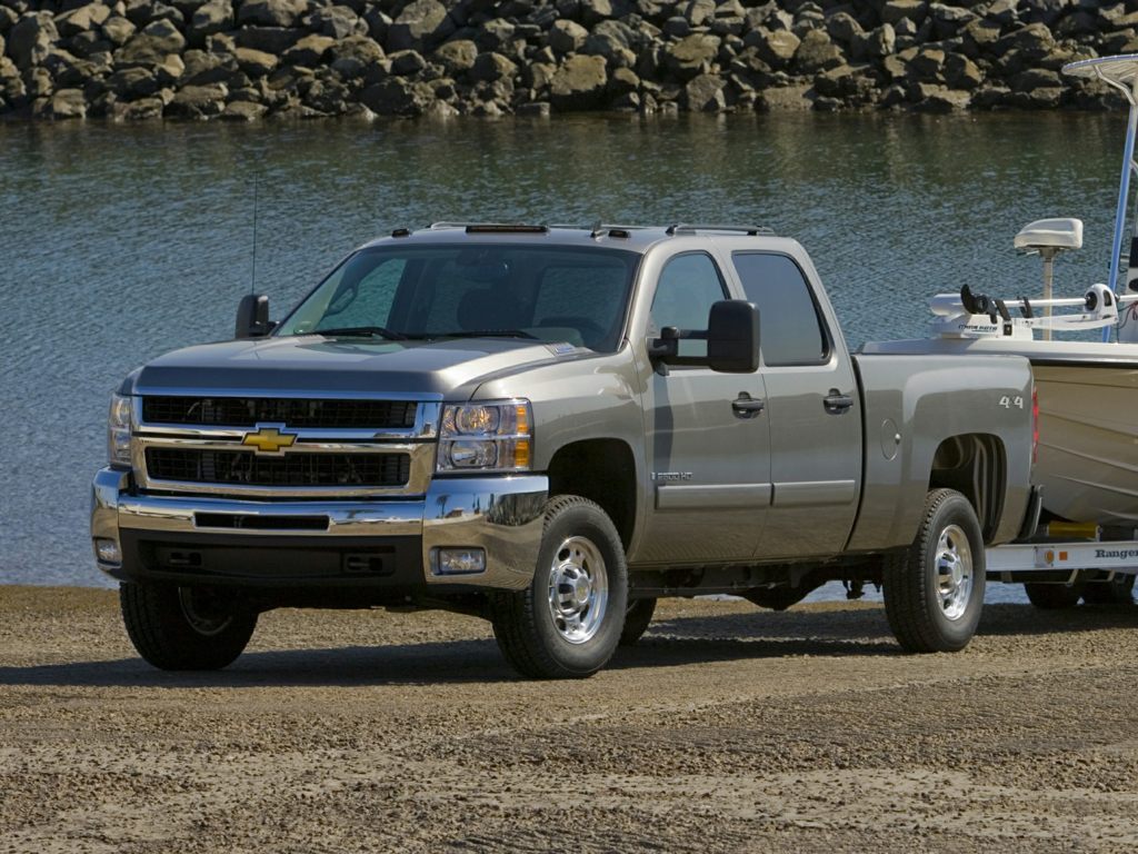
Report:
[[[265,422],[292,428],[405,429],[414,427],[417,409],[414,401],[148,395],[142,399],[142,420],[215,427]]]

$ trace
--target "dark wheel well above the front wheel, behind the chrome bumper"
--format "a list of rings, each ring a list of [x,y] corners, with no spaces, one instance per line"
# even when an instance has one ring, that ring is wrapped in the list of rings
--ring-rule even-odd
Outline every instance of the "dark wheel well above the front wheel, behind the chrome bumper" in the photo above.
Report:
[[[636,524],[636,462],[616,438],[591,438],[560,449],[550,461],[550,496],[580,495],[601,506],[625,548]]]

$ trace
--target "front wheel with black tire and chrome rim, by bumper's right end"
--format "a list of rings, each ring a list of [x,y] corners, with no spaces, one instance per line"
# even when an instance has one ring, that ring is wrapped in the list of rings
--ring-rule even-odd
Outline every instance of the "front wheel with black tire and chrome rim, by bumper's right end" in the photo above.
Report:
[[[592,501],[560,495],[545,507],[530,585],[494,594],[490,622],[522,675],[580,679],[612,657],[627,603],[625,550],[612,522]]]

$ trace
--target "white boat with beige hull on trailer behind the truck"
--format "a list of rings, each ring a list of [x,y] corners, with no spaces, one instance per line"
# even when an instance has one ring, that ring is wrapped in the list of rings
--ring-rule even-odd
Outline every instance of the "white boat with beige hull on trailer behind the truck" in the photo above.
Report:
[[[1039,299],[1000,299],[942,294],[932,301],[933,336],[867,344],[875,353],[1011,353],[1026,356],[1036,378],[1039,445],[1036,482],[1044,508],[1061,519],[1138,528],[1138,221],[1130,265],[1122,276],[1130,174],[1138,171],[1138,55],[1072,63],[1067,74],[1092,76],[1122,91],[1130,102],[1122,180],[1108,285],[1082,296],[1054,298],[1055,257],[1082,245],[1079,220],[1040,220],[1015,238],[1017,249],[1044,260]],[[1100,340],[1062,340],[1055,335],[1102,330]],[[1083,336],[1087,337],[1087,336]],[[1001,401],[1004,405],[1030,405]]]

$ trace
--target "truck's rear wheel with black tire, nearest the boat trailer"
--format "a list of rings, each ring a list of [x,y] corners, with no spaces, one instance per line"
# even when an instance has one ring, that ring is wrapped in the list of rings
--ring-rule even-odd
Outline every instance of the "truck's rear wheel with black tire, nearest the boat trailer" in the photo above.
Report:
[[[917,536],[883,567],[885,616],[909,652],[956,652],[980,623],[984,543],[972,504],[955,490],[925,498]]]

